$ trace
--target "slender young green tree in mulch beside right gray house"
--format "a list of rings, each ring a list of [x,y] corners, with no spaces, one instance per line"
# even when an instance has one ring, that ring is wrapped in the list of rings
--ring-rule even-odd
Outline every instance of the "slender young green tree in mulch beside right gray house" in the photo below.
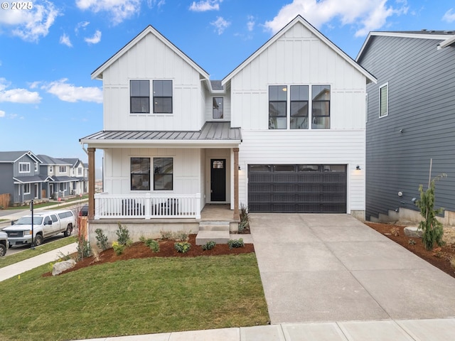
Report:
[[[422,242],[427,250],[433,249],[434,243],[439,246],[443,244],[444,227],[436,219],[436,216],[440,215],[444,211],[444,208],[440,207],[434,210],[434,183],[435,180],[446,176],[446,174],[438,175],[429,183],[426,191],[423,190],[423,185],[419,186],[420,200],[417,200],[416,205],[419,207],[420,214],[424,218],[424,220],[419,222],[419,229],[423,231]]]

